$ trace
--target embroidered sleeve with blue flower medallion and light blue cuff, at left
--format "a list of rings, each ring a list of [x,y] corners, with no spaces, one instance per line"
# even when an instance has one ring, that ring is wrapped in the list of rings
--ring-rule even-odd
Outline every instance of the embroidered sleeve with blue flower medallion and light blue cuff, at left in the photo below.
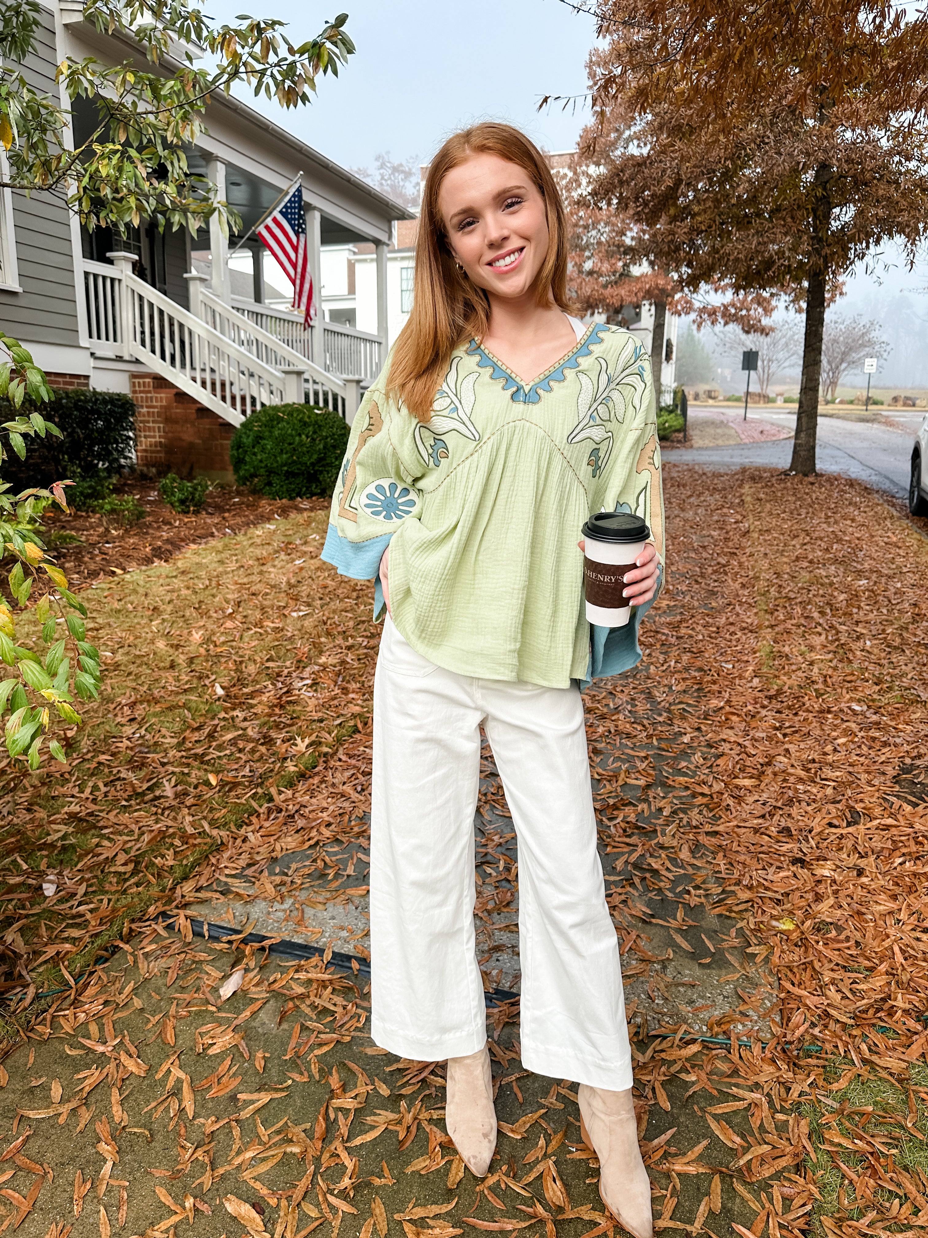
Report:
[[[391,441],[395,416],[392,401],[371,387],[351,425],[322,551],[322,558],[339,576],[376,582],[375,619],[385,609],[380,560],[402,521],[417,520],[422,506],[413,479],[407,477]]]

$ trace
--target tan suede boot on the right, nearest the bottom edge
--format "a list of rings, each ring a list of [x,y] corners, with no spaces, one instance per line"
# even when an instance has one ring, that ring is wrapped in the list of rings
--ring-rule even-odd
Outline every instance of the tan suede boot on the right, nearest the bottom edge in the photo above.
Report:
[[[599,1193],[620,1226],[635,1238],[653,1238],[651,1182],[641,1159],[631,1088],[578,1088],[580,1134],[599,1158]]]

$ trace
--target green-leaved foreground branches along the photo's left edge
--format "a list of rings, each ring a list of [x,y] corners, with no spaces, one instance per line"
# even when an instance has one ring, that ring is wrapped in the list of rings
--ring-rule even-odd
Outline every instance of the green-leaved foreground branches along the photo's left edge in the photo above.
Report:
[[[239,25],[218,25],[189,0],[88,0],[84,16],[101,31],[135,40],[148,68],[134,59],[59,64],[67,97],[89,99],[97,115],[90,136],[72,147],[69,114],[33,90],[21,72],[35,46],[38,5],[4,4],[0,144],[9,175],[0,187],[63,194],[82,224],[109,227],[118,235],[142,220],[195,233],[215,213],[228,227],[226,204],[187,161],[210,97],[244,85],[256,97],[297,108],[311,100],[317,78],[338,76],[339,64],[354,52],[345,14],[306,41],[291,40],[277,19],[239,17]],[[210,68],[197,68],[203,53]],[[100,656],[87,640],[87,608],[41,539],[48,505],[68,510],[68,483],[14,495],[2,480],[10,451],[22,459],[30,439],[58,430],[43,411],[53,399],[45,374],[1,328],[0,323],[0,401],[10,417],[0,423],[0,561],[11,560],[12,566],[6,576],[9,600],[0,593],[0,661],[12,673],[0,678],[0,716],[9,711],[7,753],[36,770],[46,742],[53,756],[66,759],[59,740],[51,738],[52,713],[66,725],[79,725],[73,702],[98,696]],[[16,608],[32,604],[42,623],[43,656],[17,643]]]

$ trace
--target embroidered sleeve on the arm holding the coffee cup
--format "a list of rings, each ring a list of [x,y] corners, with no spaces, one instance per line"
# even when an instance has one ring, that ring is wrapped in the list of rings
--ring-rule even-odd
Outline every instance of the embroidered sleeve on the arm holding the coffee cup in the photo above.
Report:
[[[631,608],[622,628],[590,624],[590,664],[586,680],[620,675],[641,661],[638,626],[661,592],[664,576],[664,509],[661,483],[661,444],[657,438],[657,401],[651,363],[637,342],[631,343],[626,364],[615,381],[611,401],[614,421],[609,427],[611,449],[601,467],[591,511],[627,511],[642,516],[661,565],[655,595]],[[601,458],[601,456],[600,456]]]

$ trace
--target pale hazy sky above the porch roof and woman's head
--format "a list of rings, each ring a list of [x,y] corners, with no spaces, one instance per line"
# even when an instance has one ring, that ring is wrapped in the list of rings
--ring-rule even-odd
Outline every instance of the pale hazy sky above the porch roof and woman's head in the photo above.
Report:
[[[569,150],[589,111],[537,111],[542,95],[583,94],[593,19],[562,0],[306,0],[252,2],[252,16],[291,22],[293,42],[317,35],[340,5],[358,51],[338,79],[319,79],[314,103],[285,113],[249,98],[276,124],[345,167],[371,167],[374,156],[426,162],[442,140],[474,120],[518,125],[547,150]],[[244,11],[243,0],[207,6],[219,20]],[[243,95],[244,98],[244,95]]]

